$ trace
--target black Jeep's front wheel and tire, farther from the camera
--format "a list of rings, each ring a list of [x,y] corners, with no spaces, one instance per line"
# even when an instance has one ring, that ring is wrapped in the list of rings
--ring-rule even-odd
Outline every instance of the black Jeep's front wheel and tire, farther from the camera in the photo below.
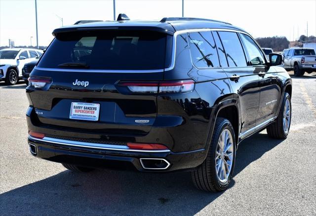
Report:
[[[289,108],[289,110],[287,110],[287,108]],[[286,117],[286,120],[284,119],[285,117]],[[276,121],[267,127],[267,133],[269,137],[275,138],[275,139],[285,139],[290,131],[291,120],[292,120],[291,97],[287,92],[284,92],[281,108],[276,118]],[[285,127],[283,125],[284,121],[287,121],[287,125]]]

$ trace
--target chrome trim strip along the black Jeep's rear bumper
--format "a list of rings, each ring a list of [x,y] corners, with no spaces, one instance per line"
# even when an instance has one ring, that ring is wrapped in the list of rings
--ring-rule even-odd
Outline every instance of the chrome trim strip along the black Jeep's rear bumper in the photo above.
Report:
[[[117,151],[132,151],[132,152],[171,152],[169,149],[166,150],[137,150],[130,149],[127,145],[111,145],[111,144],[100,144],[93,142],[79,142],[67,139],[56,139],[51,137],[44,137],[42,139],[36,138],[34,136],[29,135],[31,140],[36,140],[40,142],[49,142],[54,144],[60,144],[65,146],[76,146],[76,147],[84,147],[84,148],[94,148],[94,149],[104,149],[104,150],[117,150]]]

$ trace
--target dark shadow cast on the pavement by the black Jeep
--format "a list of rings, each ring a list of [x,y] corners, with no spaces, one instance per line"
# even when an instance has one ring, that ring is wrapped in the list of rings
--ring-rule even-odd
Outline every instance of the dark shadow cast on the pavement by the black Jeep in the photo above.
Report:
[[[281,141],[262,133],[244,140],[238,147],[235,175]],[[39,167],[34,169],[40,172]],[[232,180],[230,187],[234,184]],[[197,190],[188,172],[64,171],[1,194],[0,214],[194,215],[223,193]]]

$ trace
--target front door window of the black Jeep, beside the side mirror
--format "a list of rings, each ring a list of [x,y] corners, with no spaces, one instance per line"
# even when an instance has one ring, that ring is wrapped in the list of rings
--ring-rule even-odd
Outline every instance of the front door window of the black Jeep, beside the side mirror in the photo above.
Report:
[[[264,65],[265,58],[257,44],[248,35],[240,34],[240,38],[246,47],[251,65]]]

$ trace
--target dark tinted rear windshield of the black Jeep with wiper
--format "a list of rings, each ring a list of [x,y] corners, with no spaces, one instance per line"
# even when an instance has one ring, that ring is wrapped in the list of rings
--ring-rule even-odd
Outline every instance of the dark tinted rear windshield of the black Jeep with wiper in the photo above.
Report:
[[[152,31],[60,33],[38,67],[156,70],[165,66],[165,50],[166,35]]]

